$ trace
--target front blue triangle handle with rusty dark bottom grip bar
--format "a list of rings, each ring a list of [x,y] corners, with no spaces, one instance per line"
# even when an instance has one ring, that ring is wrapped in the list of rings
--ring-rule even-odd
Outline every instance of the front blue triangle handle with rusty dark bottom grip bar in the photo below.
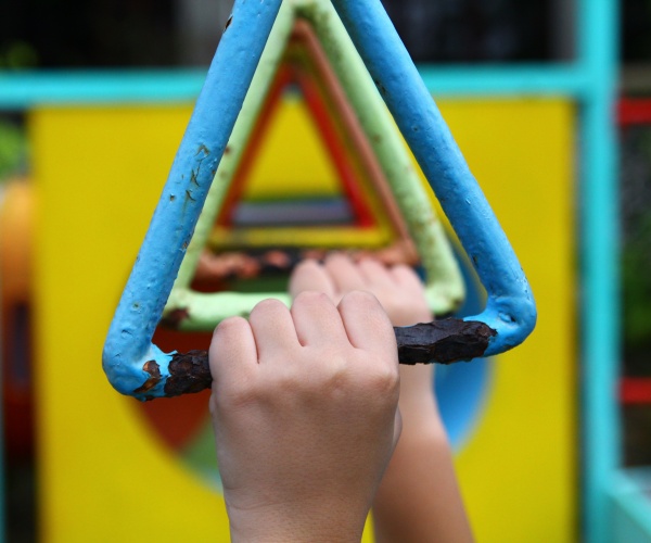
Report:
[[[311,20],[319,31],[318,22],[323,17],[319,2],[284,4],[293,8],[286,21],[301,14]],[[205,352],[166,354],[152,343],[152,337],[173,292],[213,178],[220,173],[220,160],[280,5],[280,0],[263,0],[255,5],[235,2],[104,345],[104,370],[112,384],[124,394],[149,400],[196,392],[209,386]],[[323,5],[330,3],[323,2]],[[488,296],[486,308],[477,316],[397,328],[400,361],[447,364],[512,349],[533,330],[536,311],[528,282],[503,231],[382,4],[375,0],[339,0],[333,5]],[[336,45],[331,36],[322,36],[321,40],[324,43],[333,40]],[[264,68],[265,64],[260,66]],[[383,137],[383,134],[376,136]],[[391,176],[387,178],[391,181]],[[392,186],[392,190],[403,215],[413,216],[412,192],[399,195],[396,187]],[[411,191],[414,190],[412,187]],[[408,226],[418,244],[420,240],[413,236],[417,220],[408,219]],[[430,247],[419,247],[425,263],[433,262],[427,258],[430,250]],[[183,288],[187,280],[181,278]],[[432,294],[434,289],[434,278],[429,276],[431,299],[436,298]],[[217,300],[215,305],[224,304],[222,294],[213,300]],[[239,314],[254,305],[250,299],[242,301],[241,295],[230,300]],[[190,300],[188,307],[182,307],[189,318],[182,320],[192,321],[192,313],[201,307],[204,307],[203,302]],[[213,324],[227,314],[232,311],[225,310],[213,318]],[[200,316],[196,324],[206,326],[205,320],[208,318]]]

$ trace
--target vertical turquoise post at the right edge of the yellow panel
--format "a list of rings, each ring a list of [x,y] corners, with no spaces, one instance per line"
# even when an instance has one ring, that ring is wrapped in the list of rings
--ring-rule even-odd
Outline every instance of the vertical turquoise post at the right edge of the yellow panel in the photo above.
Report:
[[[608,491],[621,464],[618,193],[615,99],[618,11],[614,0],[578,2],[579,62],[589,77],[582,103],[580,248],[584,518],[587,543],[611,541]]]

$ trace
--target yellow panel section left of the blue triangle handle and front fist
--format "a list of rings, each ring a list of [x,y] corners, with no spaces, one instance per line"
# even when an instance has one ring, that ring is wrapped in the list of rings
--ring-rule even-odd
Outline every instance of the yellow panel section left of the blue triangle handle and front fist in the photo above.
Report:
[[[101,368],[108,324],[189,108],[39,110],[40,532],[47,542],[228,541],[222,500],[159,444]]]

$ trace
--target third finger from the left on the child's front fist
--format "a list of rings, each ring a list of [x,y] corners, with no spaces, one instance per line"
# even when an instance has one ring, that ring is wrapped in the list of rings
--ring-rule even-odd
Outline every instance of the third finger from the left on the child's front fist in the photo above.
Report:
[[[330,298],[302,292],[292,305],[298,341],[304,346],[328,348],[347,341],[342,318]]]

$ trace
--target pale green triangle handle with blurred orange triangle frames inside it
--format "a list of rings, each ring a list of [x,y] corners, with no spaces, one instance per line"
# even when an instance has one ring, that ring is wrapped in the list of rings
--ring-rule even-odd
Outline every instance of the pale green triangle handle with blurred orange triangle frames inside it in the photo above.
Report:
[[[328,2],[315,4],[328,5]],[[307,15],[312,15],[312,18],[307,18]],[[286,247],[296,242],[307,247],[310,240],[312,247],[380,248],[390,243],[393,237],[400,241],[398,247],[410,248],[408,237],[411,235],[426,272],[426,290],[434,313],[450,313],[462,300],[461,275],[443,227],[430,206],[411,159],[396,134],[391,115],[363,63],[333,11],[329,12],[328,17],[314,16],[312,12],[308,12],[307,15],[293,12],[291,8],[283,8],[279,13],[229,140],[228,152],[217,171],[215,184],[210,188],[188,254],[169,294],[164,311],[166,326],[181,330],[212,330],[219,320],[230,315],[246,315],[258,301],[266,298],[272,296],[290,303],[284,292],[206,293],[192,290],[190,283],[200,263],[202,269],[221,267],[218,264],[210,266],[209,260],[206,262],[206,254],[202,254],[206,244],[214,249],[275,244]],[[328,21],[329,26],[324,27],[322,21]],[[320,47],[312,27],[330,36],[337,36],[337,42],[347,45],[343,50],[332,52],[331,56],[340,59],[339,64],[332,63],[334,70],[330,67],[330,58]],[[307,55],[307,62],[298,55]],[[295,77],[292,77],[291,70],[285,70],[286,63],[283,61],[288,58],[294,62]],[[308,71],[312,72],[311,76],[306,75]],[[264,125],[269,123],[272,106],[278,102],[283,86],[296,79],[306,94],[312,94],[306,102],[312,109],[312,115],[321,118],[322,124],[319,128],[322,132],[332,134],[324,139],[329,139],[331,146],[340,148],[353,146],[354,154],[363,161],[358,164],[356,175],[343,175],[342,178],[347,185],[348,193],[357,191],[361,197],[370,195],[372,217],[384,227],[383,230],[378,227],[320,228],[305,232],[304,229],[295,228],[260,228],[229,232],[224,227],[214,227],[215,222],[219,223],[220,212],[221,220],[225,222],[225,216],[228,216],[229,210],[232,210],[241,194],[246,178],[246,171],[242,175],[241,169],[243,165],[251,164],[251,159],[246,161],[246,153],[255,152],[258,144],[256,138],[264,136]],[[318,81],[318,85],[312,81]],[[344,84],[347,84],[345,89]],[[315,88],[328,89],[329,92],[321,91],[319,96]],[[347,98],[350,99],[350,103]],[[336,113],[335,115],[328,114],[328,108],[323,105],[327,101],[331,102],[330,110]],[[326,111],[314,113],[314,110],[318,111],[319,108]],[[332,126],[332,118],[339,118],[345,125],[335,128]],[[341,141],[346,137],[349,141],[342,146]],[[345,152],[332,148],[331,152],[333,155],[337,152],[340,156],[346,155]],[[365,172],[370,173],[367,178],[360,174]],[[388,184],[392,185],[391,188],[387,187]],[[411,224],[408,228],[405,227],[404,217],[409,217],[397,209],[391,192],[396,193],[396,198],[403,198],[403,207],[408,205],[414,212],[410,215]],[[361,198],[357,199],[360,204],[365,203]],[[382,225],[381,222],[385,220],[382,217],[388,217],[391,225]],[[392,227],[394,232],[388,231],[387,227]],[[233,235],[235,232],[237,236]],[[228,233],[231,233],[230,240]]]

